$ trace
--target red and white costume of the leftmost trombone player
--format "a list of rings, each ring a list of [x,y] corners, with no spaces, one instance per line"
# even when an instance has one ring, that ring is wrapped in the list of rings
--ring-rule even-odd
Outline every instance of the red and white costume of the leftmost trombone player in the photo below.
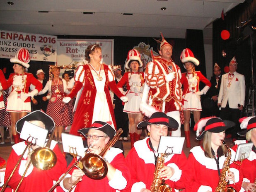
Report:
[[[9,178],[14,166],[18,162],[22,152],[26,148],[26,142],[19,142],[12,146],[13,150],[7,160],[6,172],[5,172],[5,182]],[[56,165],[49,170],[39,170],[30,166],[24,180],[22,181],[21,186],[19,187],[19,192],[47,192],[55,183],[56,180],[60,177],[61,174],[65,172],[67,163],[61,153],[58,144],[56,141],[51,142],[50,147],[57,156]],[[21,163],[17,167],[17,170],[14,172],[12,179],[9,182],[9,186],[12,189],[16,189],[22,175],[26,169],[25,164],[27,163],[28,150],[24,154]],[[57,189],[60,191],[61,189]]]

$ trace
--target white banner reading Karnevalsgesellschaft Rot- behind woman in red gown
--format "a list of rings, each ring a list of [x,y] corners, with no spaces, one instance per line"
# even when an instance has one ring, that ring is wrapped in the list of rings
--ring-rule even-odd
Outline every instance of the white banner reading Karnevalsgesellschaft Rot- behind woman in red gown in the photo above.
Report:
[[[114,39],[58,39],[57,65],[73,65],[83,62],[87,46],[99,44],[103,63],[114,63]]]

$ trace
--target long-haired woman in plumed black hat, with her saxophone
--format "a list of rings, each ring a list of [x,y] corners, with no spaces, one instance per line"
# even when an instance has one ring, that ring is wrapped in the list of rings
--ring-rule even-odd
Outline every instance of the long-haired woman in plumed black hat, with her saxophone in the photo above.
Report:
[[[230,127],[226,124],[216,117],[202,118],[196,123],[194,127],[196,139],[203,139],[203,142],[202,146],[195,146],[190,150],[188,164],[192,183],[186,191],[224,192],[227,186],[231,186],[239,192],[241,188],[239,167],[232,163],[235,152],[230,149],[229,153],[227,147],[223,145],[225,130]]]

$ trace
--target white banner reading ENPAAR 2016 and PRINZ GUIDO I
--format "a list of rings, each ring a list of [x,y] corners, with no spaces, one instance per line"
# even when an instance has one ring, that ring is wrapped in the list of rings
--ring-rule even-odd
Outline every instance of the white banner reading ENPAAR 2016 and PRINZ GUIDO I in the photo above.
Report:
[[[20,48],[29,50],[34,61],[57,60],[57,36],[0,30],[0,58],[15,57]]]

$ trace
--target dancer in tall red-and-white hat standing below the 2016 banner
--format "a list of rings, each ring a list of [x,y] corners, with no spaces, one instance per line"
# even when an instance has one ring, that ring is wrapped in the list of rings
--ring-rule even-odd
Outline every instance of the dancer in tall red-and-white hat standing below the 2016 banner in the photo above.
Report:
[[[29,51],[21,48],[15,58],[11,58],[10,62],[14,63],[14,73],[10,74],[7,80],[7,87],[12,86],[12,91],[7,98],[6,111],[10,112],[12,120],[12,134],[14,142],[19,142],[19,135],[16,132],[15,124],[17,120],[31,112],[30,97],[41,91],[43,85],[34,77],[33,74],[27,73],[29,68],[30,55]],[[35,89],[29,92],[29,86],[33,84]]]

